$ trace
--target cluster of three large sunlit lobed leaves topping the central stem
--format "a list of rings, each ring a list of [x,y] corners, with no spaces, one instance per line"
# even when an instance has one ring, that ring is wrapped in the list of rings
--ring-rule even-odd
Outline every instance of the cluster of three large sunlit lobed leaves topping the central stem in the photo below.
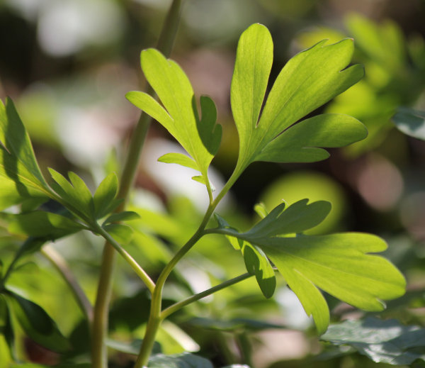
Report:
[[[208,219],[251,162],[316,162],[329,157],[324,147],[343,147],[365,138],[365,127],[351,116],[322,114],[300,121],[363,77],[361,65],[347,67],[352,54],[351,39],[332,45],[324,40],[298,53],[278,74],[264,101],[273,42],[267,28],[259,24],[244,31],[237,47],[230,94],[239,133],[239,157],[232,176],[215,197],[208,167],[219,148],[222,131],[216,124],[214,102],[201,97],[198,113],[186,74],[154,49],[142,51],[141,66],[160,103],[139,91],[129,92],[127,98],[169,130],[188,152],[190,156],[169,153],[159,160],[200,173],[193,179],[207,188]],[[319,289],[358,308],[381,311],[385,307],[382,300],[401,296],[405,288],[404,277],[390,262],[368,254],[385,250],[382,239],[361,233],[302,235],[322,222],[329,211],[330,203],[325,201],[299,201],[286,209],[282,203],[270,213],[265,211],[264,218],[246,232],[231,228],[217,215],[217,228],[205,230],[204,221],[198,233],[227,235],[242,251],[246,269],[255,275],[266,297],[272,296],[276,287],[271,260],[323,333],[329,324],[329,308]]]

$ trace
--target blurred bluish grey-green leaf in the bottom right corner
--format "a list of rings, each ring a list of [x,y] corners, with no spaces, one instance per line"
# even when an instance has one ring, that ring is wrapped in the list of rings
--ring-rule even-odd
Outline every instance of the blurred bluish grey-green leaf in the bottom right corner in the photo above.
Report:
[[[402,365],[425,360],[425,329],[397,320],[346,320],[330,325],[322,340],[351,346],[374,362]]]

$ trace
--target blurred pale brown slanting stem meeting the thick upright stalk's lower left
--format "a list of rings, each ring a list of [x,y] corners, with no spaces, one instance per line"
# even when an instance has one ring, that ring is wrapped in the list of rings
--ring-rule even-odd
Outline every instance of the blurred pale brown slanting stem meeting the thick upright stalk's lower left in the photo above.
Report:
[[[72,274],[71,269],[69,269],[67,262],[51,245],[45,245],[42,247],[41,253],[53,264],[57,271],[60,272],[64,281],[67,282],[69,289],[72,290],[81,311],[91,324],[93,321],[93,306],[91,306],[89,299],[87,299],[84,290],[81,289],[81,286],[79,286],[79,283],[77,279],[75,279],[74,274]]]

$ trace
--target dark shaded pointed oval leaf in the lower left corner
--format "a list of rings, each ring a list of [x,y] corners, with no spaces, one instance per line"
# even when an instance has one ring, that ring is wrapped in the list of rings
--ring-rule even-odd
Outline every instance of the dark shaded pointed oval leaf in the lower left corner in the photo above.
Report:
[[[55,352],[69,350],[69,342],[52,318],[38,304],[8,291],[8,307],[27,335],[38,344]]]

